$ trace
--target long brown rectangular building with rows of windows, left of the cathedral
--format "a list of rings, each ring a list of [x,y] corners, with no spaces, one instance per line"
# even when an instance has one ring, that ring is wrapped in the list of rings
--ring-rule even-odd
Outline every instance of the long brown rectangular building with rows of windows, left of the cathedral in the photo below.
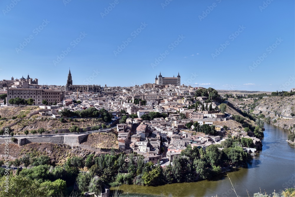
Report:
[[[42,104],[42,100],[46,100],[48,103],[60,103],[63,101],[64,95],[60,89],[10,88],[7,89],[7,106],[11,106],[9,104],[10,99],[17,97],[23,99],[32,98],[34,100],[33,105],[37,105]]]

